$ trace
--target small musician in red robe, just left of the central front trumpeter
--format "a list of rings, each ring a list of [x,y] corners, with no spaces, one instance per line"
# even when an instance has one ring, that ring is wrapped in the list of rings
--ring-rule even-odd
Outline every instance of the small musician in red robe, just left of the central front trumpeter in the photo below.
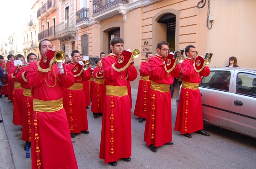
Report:
[[[103,103],[106,94],[106,86],[104,84],[104,76],[102,71],[102,61],[100,58],[95,60],[94,67],[94,91],[92,98],[92,108],[91,112],[93,112],[94,118],[98,118],[98,113],[103,113]]]

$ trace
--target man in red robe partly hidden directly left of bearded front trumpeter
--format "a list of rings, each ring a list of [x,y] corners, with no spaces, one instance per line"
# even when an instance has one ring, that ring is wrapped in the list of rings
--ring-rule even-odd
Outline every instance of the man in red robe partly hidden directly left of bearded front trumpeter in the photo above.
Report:
[[[34,53],[28,54],[28,63],[36,60],[37,56]],[[33,97],[31,95],[31,86],[30,84],[28,84],[28,81],[24,76],[27,69],[28,65],[22,66],[20,71],[16,75],[16,81],[19,82],[20,86],[23,88],[21,140],[26,141],[24,150],[26,150],[26,147],[30,149],[31,146],[31,122],[33,113]]]

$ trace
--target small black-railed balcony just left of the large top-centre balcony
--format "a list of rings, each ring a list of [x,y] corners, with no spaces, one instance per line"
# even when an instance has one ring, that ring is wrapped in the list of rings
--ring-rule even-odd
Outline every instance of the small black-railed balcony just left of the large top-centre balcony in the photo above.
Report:
[[[89,9],[82,8],[76,12],[75,23],[76,27],[84,28],[89,25]]]

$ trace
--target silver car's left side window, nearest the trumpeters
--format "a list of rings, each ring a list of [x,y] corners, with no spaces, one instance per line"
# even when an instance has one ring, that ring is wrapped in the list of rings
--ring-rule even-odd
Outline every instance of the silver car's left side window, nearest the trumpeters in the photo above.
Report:
[[[202,78],[199,86],[228,92],[230,75],[230,71],[213,70],[210,75]]]

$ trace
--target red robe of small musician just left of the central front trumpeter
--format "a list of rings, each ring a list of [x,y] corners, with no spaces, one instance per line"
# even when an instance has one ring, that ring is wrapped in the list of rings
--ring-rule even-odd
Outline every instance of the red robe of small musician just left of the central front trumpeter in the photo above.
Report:
[[[97,78],[96,74],[100,69],[100,67],[95,67],[94,68],[94,77],[95,77],[95,82],[94,82],[94,91],[93,91],[93,98],[92,98],[92,107],[91,107],[91,112],[94,113],[103,113],[103,103],[104,103],[104,98],[106,95],[106,86],[104,84],[104,77],[103,78]]]

